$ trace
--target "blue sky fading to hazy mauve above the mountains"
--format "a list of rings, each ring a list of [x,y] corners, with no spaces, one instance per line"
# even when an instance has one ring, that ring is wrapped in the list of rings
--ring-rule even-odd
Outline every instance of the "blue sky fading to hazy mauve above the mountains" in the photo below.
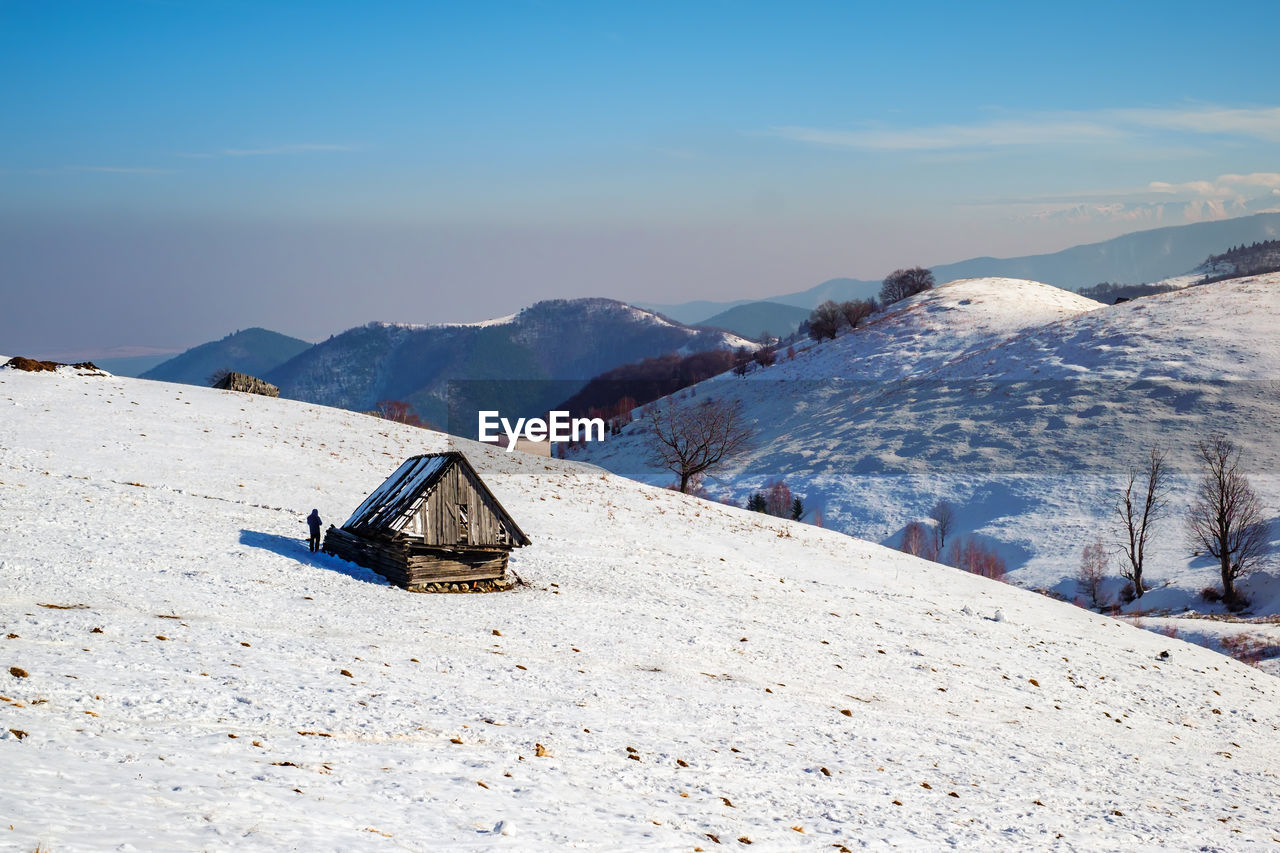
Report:
[[[891,5],[0,0],[0,352],[764,297],[1280,207],[1277,4]]]

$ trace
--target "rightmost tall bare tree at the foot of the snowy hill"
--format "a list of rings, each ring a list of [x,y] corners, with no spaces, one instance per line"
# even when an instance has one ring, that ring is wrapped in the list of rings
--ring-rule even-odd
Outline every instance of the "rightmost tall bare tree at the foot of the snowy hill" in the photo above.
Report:
[[[1266,555],[1270,524],[1262,502],[1240,473],[1240,451],[1225,435],[1196,442],[1204,471],[1187,515],[1189,544],[1219,561],[1222,599],[1240,603],[1235,581]]]

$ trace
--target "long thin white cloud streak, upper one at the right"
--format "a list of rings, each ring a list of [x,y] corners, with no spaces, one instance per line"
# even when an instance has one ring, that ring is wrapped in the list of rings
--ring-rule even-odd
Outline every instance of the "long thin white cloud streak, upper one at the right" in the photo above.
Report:
[[[776,127],[792,142],[865,151],[943,151],[1007,146],[1089,145],[1135,140],[1152,132],[1235,136],[1280,142],[1280,108],[1189,106],[1042,113],[972,124],[855,129]]]

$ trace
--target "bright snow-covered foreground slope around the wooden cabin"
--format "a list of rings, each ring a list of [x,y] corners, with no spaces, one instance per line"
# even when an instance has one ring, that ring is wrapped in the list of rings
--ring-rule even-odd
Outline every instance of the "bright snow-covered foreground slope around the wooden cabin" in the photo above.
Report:
[[[1277,835],[1280,681],[833,532],[465,443],[534,542],[526,587],[411,594],[307,552],[308,510],[445,441],[0,371],[0,845]]]

